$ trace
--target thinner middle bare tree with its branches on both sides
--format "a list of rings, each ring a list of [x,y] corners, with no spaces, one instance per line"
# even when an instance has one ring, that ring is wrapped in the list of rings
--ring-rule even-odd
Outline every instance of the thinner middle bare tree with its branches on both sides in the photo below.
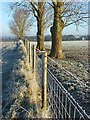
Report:
[[[30,4],[37,21],[37,48],[44,50],[44,32],[52,23],[51,6],[49,6],[44,0],[30,2]]]

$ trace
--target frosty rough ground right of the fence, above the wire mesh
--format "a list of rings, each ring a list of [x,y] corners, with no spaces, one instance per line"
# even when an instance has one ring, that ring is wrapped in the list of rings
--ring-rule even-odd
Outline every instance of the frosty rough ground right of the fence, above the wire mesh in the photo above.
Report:
[[[49,53],[50,44],[46,44],[46,48]],[[88,51],[88,41],[64,41],[63,52],[66,58],[63,60],[54,60],[75,77],[68,74],[52,61],[49,61],[49,69],[80,106],[86,110],[86,113],[90,115],[90,56]]]

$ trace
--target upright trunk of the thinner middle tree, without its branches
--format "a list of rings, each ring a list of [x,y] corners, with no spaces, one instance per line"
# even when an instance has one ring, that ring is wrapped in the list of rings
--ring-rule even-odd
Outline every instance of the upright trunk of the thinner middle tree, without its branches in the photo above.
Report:
[[[37,20],[37,48],[44,50],[44,5],[38,3],[38,20]]]

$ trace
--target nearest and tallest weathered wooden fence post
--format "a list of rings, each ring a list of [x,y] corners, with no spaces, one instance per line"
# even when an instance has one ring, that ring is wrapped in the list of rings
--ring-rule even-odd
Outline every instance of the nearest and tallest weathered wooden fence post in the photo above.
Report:
[[[42,108],[47,108],[47,52],[42,55]]]

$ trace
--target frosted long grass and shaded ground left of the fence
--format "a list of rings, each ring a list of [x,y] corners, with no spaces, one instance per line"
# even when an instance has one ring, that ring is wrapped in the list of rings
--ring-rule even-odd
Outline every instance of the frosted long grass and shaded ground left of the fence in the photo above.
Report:
[[[23,43],[2,44],[3,119],[49,117],[49,111],[41,109],[41,90],[34,79]]]

